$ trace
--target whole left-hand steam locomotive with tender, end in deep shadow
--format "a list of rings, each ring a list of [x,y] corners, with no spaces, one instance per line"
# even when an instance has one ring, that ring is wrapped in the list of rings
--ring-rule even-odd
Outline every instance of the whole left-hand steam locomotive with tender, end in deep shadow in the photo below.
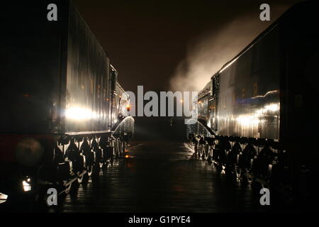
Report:
[[[0,192],[69,192],[125,152],[130,97],[71,1],[6,3],[1,15]]]

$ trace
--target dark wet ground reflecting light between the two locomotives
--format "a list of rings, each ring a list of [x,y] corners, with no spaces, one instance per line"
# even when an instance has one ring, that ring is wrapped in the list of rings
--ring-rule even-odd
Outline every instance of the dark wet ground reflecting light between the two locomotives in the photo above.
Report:
[[[59,212],[265,211],[259,195],[233,175],[191,157],[183,143],[140,142],[68,194]],[[60,202],[61,203],[61,202]]]

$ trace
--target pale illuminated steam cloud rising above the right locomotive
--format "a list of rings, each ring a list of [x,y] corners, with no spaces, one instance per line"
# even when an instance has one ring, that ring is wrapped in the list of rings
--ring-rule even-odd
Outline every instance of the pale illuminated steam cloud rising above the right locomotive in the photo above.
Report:
[[[280,16],[286,6],[272,7],[272,22]],[[194,45],[189,45],[186,58],[179,62],[174,77],[170,81],[173,91],[200,91],[215,72],[272,22],[254,17],[240,17],[223,26],[218,31],[202,35]]]

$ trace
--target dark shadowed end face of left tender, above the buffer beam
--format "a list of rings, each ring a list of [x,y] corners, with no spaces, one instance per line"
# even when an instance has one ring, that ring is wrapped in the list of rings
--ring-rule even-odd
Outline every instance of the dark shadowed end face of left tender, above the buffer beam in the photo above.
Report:
[[[57,21],[47,20],[51,3]],[[67,10],[66,1],[1,5],[1,133],[57,131]]]

